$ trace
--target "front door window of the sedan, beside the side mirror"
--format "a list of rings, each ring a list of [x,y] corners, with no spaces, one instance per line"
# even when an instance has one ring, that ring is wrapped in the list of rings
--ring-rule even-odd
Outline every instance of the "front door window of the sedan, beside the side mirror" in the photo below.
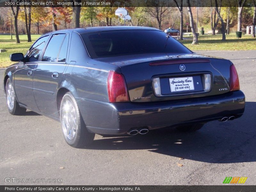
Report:
[[[42,51],[44,49],[44,44],[48,40],[49,36],[44,36],[36,41],[35,44],[30,48],[27,53],[28,62],[38,61]]]

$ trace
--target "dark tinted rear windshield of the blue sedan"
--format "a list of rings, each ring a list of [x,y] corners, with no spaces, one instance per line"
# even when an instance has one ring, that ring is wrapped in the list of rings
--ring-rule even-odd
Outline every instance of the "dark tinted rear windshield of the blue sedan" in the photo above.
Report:
[[[93,59],[143,53],[191,53],[174,38],[156,30],[116,30],[82,34]]]

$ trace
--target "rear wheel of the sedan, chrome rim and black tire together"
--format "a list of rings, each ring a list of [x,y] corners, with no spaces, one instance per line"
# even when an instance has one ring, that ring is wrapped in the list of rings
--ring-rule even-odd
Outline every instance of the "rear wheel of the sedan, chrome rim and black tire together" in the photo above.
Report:
[[[88,146],[95,134],[88,132],[74,96],[67,92],[60,104],[60,122],[64,139],[74,148]]]

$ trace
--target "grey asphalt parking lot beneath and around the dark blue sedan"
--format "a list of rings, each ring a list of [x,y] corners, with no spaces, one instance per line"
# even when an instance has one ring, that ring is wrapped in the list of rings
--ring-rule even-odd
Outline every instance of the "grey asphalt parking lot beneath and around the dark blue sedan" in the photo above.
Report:
[[[5,183],[6,177],[62,179],[64,185],[222,185],[225,177],[248,177],[243,185],[255,185],[256,51],[197,53],[235,64],[246,96],[241,118],[210,122],[194,133],[165,128],[134,137],[96,135],[89,148],[75,149],[59,122],[32,111],[10,115],[1,85],[0,185],[26,184]]]

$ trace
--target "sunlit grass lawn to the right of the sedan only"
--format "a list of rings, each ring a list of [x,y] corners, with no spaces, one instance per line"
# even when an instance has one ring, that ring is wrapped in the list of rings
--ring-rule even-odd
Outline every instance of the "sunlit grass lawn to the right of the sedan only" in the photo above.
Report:
[[[239,50],[256,50],[256,38],[250,35],[242,35],[237,39],[236,35],[226,35],[226,41],[221,41],[222,35],[199,35],[198,44],[191,45],[193,37],[184,35],[186,40],[180,41],[190,50],[216,50],[216,51],[239,51]]]

